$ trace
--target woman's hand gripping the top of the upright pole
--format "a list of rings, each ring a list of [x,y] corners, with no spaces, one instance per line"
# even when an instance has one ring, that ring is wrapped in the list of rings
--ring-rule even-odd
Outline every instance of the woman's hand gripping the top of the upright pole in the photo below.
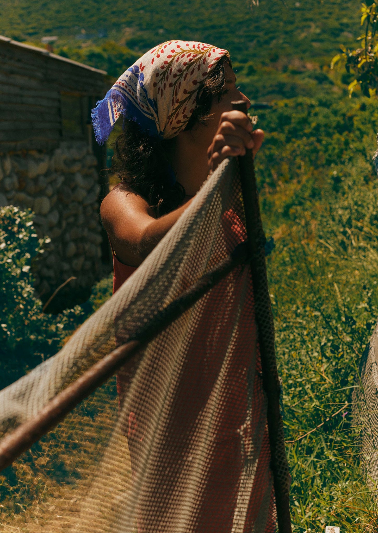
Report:
[[[243,112],[222,113],[218,130],[207,151],[210,174],[226,157],[244,156],[246,149],[251,149],[253,155],[256,155],[263,142],[264,132],[252,130],[253,126]]]

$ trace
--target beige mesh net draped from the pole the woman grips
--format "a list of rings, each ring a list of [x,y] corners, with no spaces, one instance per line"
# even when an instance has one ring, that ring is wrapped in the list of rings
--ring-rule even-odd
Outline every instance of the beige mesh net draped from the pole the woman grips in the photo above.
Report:
[[[225,160],[56,356],[0,392],[4,432],[36,415],[246,240]],[[267,400],[250,267],[237,266],[6,469],[10,531],[273,532]],[[13,481],[12,481],[13,480]]]

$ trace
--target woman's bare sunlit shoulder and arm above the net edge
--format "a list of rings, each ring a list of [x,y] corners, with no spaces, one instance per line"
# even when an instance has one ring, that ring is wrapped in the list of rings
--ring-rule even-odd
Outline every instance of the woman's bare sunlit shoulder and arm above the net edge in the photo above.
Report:
[[[141,196],[114,188],[101,204],[101,220],[112,241],[117,259],[139,266],[191,204],[192,198],[156,219]]]

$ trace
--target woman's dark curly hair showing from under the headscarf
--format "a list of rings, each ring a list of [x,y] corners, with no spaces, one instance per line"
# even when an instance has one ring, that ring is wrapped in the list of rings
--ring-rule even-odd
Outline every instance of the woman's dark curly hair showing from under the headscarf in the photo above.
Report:
[[[206,125],[210,117],[214,98],[222,99],[225,84],[224,62],[219,60],[201,86],[196,96],[196,107],[184,131],[191,130],[196,123]],[[123,187],[146,199],[157,216],[169,213],[182,204],[185,189],[177,181],[172,183],[171,155],[176,139],[161,140],[150,137],[140,130],[139,125],[124,119],[123,132],[114,143],[113,169],[121,179]]]

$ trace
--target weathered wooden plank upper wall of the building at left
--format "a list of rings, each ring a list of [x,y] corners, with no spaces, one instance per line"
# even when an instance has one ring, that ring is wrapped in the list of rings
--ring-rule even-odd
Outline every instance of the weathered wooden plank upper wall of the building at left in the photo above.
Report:
[[[54,54],[0,39],[0,152],[57,147],[62,140],[60,93],[94,101],[105,95],[106,78]]]

